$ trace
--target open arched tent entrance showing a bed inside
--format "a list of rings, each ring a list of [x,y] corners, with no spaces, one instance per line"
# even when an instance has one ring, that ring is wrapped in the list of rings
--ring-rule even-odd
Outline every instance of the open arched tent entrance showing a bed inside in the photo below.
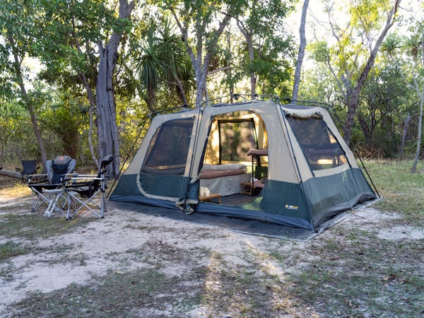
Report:
[[[213,118],[202,160],[200,187],[220,194],[225,205],[241,205],[252,201],[249,187],[252,173],[255,179],[266,179],[268,160],[264,157],[252,165],[251,149],[267,148],[268,140],[263,120],[251,111],[220,114]]]

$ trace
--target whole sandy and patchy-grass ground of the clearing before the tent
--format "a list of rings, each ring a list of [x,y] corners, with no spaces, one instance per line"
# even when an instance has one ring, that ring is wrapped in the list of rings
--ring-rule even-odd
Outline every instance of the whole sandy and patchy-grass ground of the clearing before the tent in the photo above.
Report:
[[[118,209],[44,218],[28,194],[0,189],[1,317],[424,314],[422,217],[377,210],[396,192],[308,242]]]

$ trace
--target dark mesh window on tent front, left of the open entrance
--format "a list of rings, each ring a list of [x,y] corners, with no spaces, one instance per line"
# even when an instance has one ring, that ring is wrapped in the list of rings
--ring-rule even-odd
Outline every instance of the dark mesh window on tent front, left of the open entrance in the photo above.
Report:
[[[151,139],[142,172],[182,175],[189,153],[194,119],[177,119],[165,122]]]

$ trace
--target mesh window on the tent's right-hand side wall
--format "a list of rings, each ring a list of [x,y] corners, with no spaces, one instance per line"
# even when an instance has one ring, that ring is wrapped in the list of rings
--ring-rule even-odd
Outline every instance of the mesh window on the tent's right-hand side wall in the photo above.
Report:
[[[347,163],[346,153],[324,120],[287,118],[312,170],[338,167]]]

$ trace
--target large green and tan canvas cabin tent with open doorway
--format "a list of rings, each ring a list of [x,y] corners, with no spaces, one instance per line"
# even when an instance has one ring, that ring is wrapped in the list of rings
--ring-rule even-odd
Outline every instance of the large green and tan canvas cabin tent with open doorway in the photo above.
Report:
[[[328,110],[278,99],[156,115],[110,196],[307,230],[376,198]]]

